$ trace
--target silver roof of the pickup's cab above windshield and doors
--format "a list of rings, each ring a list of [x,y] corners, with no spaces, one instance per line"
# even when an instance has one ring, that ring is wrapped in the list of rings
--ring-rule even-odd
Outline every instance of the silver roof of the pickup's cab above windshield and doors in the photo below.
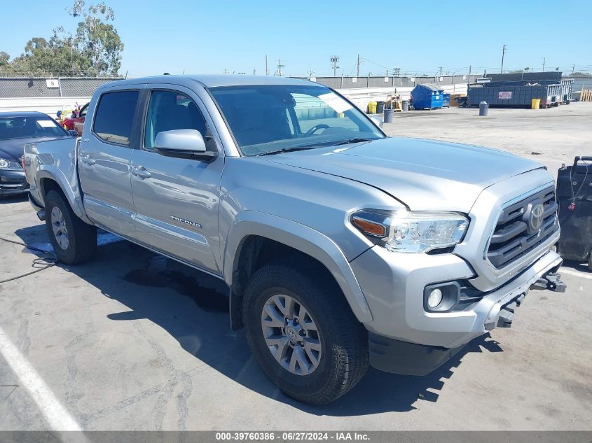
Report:
[[[205,87],[216,86],[239,86],[239,85],[316,85],[322,86],[318,83],[313,83],[307,80],[298,80],[289,77],[271,77],[271,76],[247,76],[247,75],[221,75],[221,74],[204,74],[204,75],[182,75],[182,76],[153,76],[142,78],[130,78],[128,80],[116,80],[114,82],[106,83],[106,85],[137,85],[138,83],[174,83],[174,80],[195,80],[202,83]]]

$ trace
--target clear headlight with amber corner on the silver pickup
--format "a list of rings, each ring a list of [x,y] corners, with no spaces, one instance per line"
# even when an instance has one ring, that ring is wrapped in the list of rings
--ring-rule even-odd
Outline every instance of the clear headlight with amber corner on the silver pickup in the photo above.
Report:
[[[460,213],[363,210],[352,225],[390,251],[428,252],[462,241],[469,220]]]

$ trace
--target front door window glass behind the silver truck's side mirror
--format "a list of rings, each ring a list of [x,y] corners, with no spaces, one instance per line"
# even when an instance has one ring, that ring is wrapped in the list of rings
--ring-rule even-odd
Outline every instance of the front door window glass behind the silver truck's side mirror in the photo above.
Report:
[[[179,92],[153,91],[150,95],[144,147],[154,148],[159,132],[173,129],[195,129],[199,131],[207,146],[207,125],[193,100]]]

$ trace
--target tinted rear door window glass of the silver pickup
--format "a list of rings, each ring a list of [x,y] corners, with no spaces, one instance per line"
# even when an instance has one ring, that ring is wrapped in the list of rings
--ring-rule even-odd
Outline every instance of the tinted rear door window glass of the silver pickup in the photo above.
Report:
[[[92,126],[93,132],[97,134],[99,139],[130,146],[138,95],[138,91],[102,94]]]

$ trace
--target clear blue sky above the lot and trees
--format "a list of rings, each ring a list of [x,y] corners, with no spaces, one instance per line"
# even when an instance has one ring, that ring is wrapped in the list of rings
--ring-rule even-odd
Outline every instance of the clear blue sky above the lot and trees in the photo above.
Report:
[[[225,69],[273,75],[355,73],[386,68],[434,75],[545,66],[592,71],[590,0],[281,1],[105,0],[125,50],[121,73],[222,73]],[[69,0],[3,1],[0,50],[16,57],[33,36],[48,38],[63,24],[74,32]],[[89,1],[87,0],[87,3]],[[25,6],[26,5],[26,6]],[[554,25],[551,29],[550,25]]]

